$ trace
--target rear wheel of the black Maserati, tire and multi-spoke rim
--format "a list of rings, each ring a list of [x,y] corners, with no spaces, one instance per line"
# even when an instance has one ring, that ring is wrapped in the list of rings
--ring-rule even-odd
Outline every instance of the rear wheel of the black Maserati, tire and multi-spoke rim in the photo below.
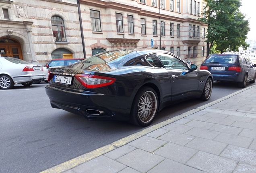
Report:
[[[134,97],[129,122],[142,127],[149,126],[157,112],[157,93],[151,87],[143,87]]]

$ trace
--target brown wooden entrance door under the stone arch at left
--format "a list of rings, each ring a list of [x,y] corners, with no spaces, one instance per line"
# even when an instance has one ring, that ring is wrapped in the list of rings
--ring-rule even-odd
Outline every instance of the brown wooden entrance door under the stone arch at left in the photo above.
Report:
[[[21,44],[18,40],[8,37],[0,38],[0,55],[23,60]]]

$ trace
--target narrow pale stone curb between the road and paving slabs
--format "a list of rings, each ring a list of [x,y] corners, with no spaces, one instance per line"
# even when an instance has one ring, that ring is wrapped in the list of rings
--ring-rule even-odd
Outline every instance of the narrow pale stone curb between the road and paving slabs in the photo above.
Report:
[[[90,153],[86,153],[84,155],[81,155],[79,157],[76,157],[74,159],[71,159],[70,161],[66,161],[64,163],[61,163],[60,165],[56,165],[55,167],[52,167],[52,168],[49,168],[45,171],[42,171],[41,173],[62,173],[64,171],[68,171],[74,167],[77,167],[78,165],[81,165],[87,161],[90,161],[96,157],[99,157],[105,153],[108,153],[109,151],[112,151],[114,149],[117,149],[119,147],[122,147],[123,145],[126,145],[127,143],[130,143],[131,141],[134,141],[135,139],[138,139],[144,135],[147,135],[148,133],[151,133],[161,127],[164,127],[166,125],[169,125],[170,123],[173,123],[175,121],[178,121],[184,117],[187,117],[188,115],[191,115],[191,114],[194,114],[198,111],[202,111],[203,109],[206,109],[207,107],[210,107],[212,105],[215,105],[216,103],[219,103],[221,101],[224,101],[234,95],[237,95],[239,93],[242,93],[243,91],[246,91],[252,87],[256,87],[256,86],[250,86],[250,87],[247,87],[245,89],[242,89],[242,90],[239,90],[239,91],[236,91],[235,93],[232,93],[230,95],[227,95],[225,97],[222,97],[221,99],[217,99],[216,101],[213,101],[211,103],[207,103],[206,105],[203,105],[203,106],[200,106],[196,109],[192,109],[186,113],[182,113],[181,115],[178,115],[176,117],[173,117],[171,119],[168,119],[166,121],[163,121],[161,123],[158,123],[156,125],[153,125],[147,129],[144,129],[140,132],[137,132],[137,133],[134,133],[132,135],[129,135],[128,137],[124,137],[118,141],[115,141],[109,145],[105,145],[104,147],[101,147],[99,149],[96,149],[94,151],[91,151]]]

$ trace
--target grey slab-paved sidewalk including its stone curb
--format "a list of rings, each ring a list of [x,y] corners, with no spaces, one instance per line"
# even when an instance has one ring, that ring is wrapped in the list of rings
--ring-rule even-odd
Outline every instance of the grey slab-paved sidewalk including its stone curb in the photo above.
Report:
[[[256,85],[42,173],[256,173]]]

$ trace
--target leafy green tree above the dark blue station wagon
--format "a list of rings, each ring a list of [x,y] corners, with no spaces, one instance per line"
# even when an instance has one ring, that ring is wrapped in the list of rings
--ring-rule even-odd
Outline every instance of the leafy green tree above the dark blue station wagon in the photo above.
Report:
[[[221,53],[229,49],[238,51],[242,46],[244,50],[249,46],[245,42],[250,31],[249,21],[244,20],[245,15],[239,11],[239,0],[204,0],[207,4],[202,12],[200,22],[208,25],[206,33],[207,56],[211,47]]]

